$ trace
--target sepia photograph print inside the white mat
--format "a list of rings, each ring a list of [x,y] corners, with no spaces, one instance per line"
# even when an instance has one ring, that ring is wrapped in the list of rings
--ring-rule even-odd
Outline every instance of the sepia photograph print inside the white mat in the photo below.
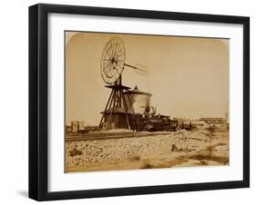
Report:
[[[65,31],[65,172],[229,166],[229,41]]]

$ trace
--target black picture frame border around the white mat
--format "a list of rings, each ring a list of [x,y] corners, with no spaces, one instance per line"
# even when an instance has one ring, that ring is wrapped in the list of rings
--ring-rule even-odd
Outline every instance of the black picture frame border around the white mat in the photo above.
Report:
[[[47,190],[47,16],[50,13],[121,16],[243,25],[243,180],[99,190]],[[29,7],[29,198],[67,200],[250,187],[250,18],[76,5]]]

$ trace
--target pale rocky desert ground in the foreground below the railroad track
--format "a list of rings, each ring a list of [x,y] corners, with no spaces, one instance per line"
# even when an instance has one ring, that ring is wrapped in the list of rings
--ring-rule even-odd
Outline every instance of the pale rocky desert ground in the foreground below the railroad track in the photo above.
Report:
[[[229,132],[178,131],[66,142],[66,172],[229,165]]]

